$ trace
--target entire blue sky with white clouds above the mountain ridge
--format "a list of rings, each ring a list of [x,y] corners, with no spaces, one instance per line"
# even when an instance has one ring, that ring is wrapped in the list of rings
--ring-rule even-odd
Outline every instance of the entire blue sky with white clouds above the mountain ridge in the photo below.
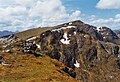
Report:
[[[23,31],[74,20],[120,29],[120,0],[0,0],[1,31]]]

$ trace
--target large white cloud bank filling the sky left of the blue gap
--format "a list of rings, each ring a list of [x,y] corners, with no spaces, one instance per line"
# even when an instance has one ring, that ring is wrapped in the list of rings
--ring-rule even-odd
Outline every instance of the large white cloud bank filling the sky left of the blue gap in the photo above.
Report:
[[[79,19],[80,14],[68,13],[61,0],[0,0],[0,30],[52,26]]]

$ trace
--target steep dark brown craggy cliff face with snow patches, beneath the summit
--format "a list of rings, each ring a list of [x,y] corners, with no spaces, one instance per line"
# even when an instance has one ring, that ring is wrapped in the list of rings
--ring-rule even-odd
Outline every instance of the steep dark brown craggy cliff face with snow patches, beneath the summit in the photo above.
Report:
[[[73,69],[73,77],[79,81],[117,81],[120,77],[119,46],[104,42],[112,42],[117,36],[110,29],[102,29],[98,31],[81,21],[58,26],[40,35],[40,52]],[[110,38],[106,36],[108,33]],[[107,40],[104,37],[108,37]]]

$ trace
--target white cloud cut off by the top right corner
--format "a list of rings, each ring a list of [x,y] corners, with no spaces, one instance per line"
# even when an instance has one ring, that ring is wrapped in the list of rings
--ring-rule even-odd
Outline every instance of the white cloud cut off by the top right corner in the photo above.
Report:
[[[100,9],[120,9],[120,0],[100,0],[96,7]]]

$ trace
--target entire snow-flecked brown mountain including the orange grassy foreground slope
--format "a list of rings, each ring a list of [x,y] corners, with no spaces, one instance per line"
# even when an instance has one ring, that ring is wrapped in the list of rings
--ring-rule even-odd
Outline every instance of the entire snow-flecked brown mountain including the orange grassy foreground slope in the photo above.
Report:
[[[30,29],[2,37],[0,41],[1,54],[10,54],[10,57],[4,57],[11,64],[6,69],[12,68],[11,74],[15,78],[21,74],[17,82],[36,82],[35,79],[40,76],[39,82],[120,81],[120,39],[108,27],[98,29],[76,20],[54,27]],[[4,60],[1,62],[4,64]],[[14,69],[21,71],[14,72]],[[24,74],[22,71],[27,72]],[[27,76],[29,72],[31,76]],[[10,80],[8,70],[4,70],[4,73],[1,77],[7,76]],[[68,81],[65,79],[67,75]]]

